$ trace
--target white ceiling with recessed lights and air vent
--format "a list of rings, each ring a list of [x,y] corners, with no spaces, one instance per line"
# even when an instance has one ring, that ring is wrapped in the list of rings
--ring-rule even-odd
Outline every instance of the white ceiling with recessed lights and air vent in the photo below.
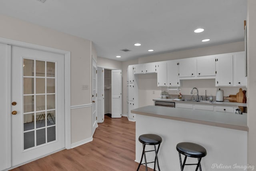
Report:
[[[0,0],[0,13],[92,40],[98,56],[126,61],[242,41],[247,1]],[[131,51],[120,51],[125,48]]]

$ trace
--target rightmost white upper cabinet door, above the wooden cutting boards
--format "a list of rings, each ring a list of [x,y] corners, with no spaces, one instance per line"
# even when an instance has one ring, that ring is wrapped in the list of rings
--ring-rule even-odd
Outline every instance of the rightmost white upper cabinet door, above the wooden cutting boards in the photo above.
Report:
[[[235,86],[246,86],[247,79],[245,77],[245,55],[244,52],[238,52],[233,57],[234,65],[234,85]]]

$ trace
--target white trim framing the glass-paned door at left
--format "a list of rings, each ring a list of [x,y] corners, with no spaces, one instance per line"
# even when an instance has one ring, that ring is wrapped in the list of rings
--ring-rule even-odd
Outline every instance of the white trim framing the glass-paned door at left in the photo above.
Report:
[[[30,49],[34,49],[34,50],[42,50],[42,51],[46,51],[46,52],[53,52],[53,53],[57,53],[57,54],[62,54],[64,55],[65,58],[65,148],[66,149],[71,149],[71,119],[70,119],[70,51],[66,51],[66,50],[60,50],[60,49],[55,49],[55,48],[50,48],[50,47],[46,47],[46,46],[40,46],[40,45],[36,45],[36,44],[30,44],[30,43],[26,43],[26,42],[20,42],[17,40],[12,40],[12,39],[7,39],[7,38],[1,38],[0,37],[0,43],[2,44],[8,44],[8,45],[12,45],[12,46],[18,46],[18,47],[22,47],[22,48],[30,48]],[[7,84],[7,97],[6,97],[6,101],[9,102],[9,104],[11,103],[11,47],[8,47],[8,49],[10,50],[8,52],[8,59],[7,59],[7,71],[6,71],[6,84]],[[7,139],[6,139],[6,143],[7,143],[7,151],[8,151],[8,156],[6,156],[8,158],[8,163],[7,165],[9,167],[11,167],[11,107],[7,105],[6,107],[7,109],[7,119],[6,119],[6,123],[7,123]]]

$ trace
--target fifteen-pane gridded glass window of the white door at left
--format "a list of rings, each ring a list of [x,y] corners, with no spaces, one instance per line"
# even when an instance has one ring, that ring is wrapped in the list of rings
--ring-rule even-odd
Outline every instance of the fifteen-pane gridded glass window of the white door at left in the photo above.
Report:
[[[56,141],[55,66],[23,58],[24,150]]]

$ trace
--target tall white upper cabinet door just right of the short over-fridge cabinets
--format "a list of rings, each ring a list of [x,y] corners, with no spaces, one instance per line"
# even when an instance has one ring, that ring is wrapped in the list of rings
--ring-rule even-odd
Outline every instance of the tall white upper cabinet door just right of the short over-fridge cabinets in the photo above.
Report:
[[[158,63],[157,70],[157,86],[167,86],[167,64],[166,62]]]

